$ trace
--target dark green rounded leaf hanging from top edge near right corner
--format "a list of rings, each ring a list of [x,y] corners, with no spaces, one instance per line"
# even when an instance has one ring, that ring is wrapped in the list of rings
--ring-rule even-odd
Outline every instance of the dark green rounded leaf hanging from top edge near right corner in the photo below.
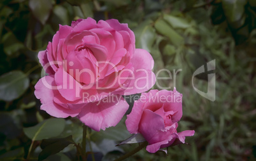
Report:
[[[222,8],[228,22],[236,22],[241,19],[246,3],[246,0],[222,0]]]

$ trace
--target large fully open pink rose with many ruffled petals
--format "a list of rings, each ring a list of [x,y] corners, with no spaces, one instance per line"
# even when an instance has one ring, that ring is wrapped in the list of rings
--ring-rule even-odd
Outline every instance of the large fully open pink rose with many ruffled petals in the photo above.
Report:
[[[39,51],[46,76],[35,86],[41,110],[53,117],[78,117],[100,131],[116,126],[129,105],[122,95],[155,84],[153,58],[135,48],[135,37],[118,20],[80,19],[59,31]]]

